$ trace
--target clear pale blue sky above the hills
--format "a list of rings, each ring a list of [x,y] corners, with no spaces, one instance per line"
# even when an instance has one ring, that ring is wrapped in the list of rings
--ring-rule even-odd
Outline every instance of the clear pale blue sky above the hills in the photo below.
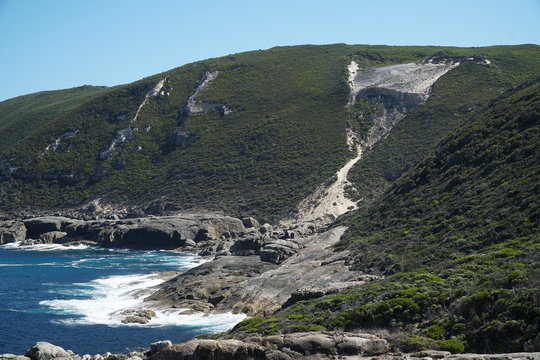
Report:
[[[540,0],[0,0],[0,100],[338,42],[540,44]]]

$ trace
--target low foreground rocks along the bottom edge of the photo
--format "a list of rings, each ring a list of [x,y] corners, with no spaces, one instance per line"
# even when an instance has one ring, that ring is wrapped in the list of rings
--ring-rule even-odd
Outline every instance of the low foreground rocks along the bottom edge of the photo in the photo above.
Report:
[[[371,334],[310,332],[243,339],[169,340],[128,354],[78,355],[38,342],[25,355],[0,354],[0,360],[540,360],[540,352],[507,354],[451,354],[447,351],[391,352],[388,343]]]

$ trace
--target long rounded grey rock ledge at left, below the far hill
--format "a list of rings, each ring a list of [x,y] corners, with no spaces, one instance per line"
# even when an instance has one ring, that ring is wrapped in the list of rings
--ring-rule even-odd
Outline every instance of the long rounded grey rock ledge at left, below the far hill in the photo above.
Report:
[[[4,223],[0,244],[26,238],[38,240],[28,244],[92,241],[104,247],[176,249],[192,247],[193,242],[236,239],[246,232],[242,220],[213,214],[91,221],[47,216],[26,219],[24,224]]]

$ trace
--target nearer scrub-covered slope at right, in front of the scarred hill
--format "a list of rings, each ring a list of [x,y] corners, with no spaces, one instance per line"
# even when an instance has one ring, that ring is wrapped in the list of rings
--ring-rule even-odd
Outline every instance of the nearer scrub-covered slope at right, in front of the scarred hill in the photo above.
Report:
[[[539,120],[540,79],[499,96],[341,220],[351,268],[383,280],[246,320],[236,333],[386,329],[405,350],[538,351]]]

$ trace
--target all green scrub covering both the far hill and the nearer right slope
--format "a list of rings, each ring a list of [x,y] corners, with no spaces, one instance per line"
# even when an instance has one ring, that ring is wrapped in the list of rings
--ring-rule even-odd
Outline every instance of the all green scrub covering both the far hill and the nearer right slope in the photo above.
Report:
[[[351,157],[346,126],[365,136],[380,111],[369,100],[345,106],[352,59],[363,68],[453,59],[462,64],[351,171],[364,206],[340,220],[350,227],[340,247],[351,250],[352,268],[385,278],[247,319],[233,332],[384,328],[409,350],[539,350],[540,82],[504,92],[540,74],[539,50],[280,47],[113,89],[7,100],[0,207],[64,208],[97,197],[144,207],[158,199],[170,210],[275,221]],[[197,100],[232,113],[185,118],[207,71],[220,75]],[[133,122],[165,77],[168,95],[150,98]],[[189,139],[172,146],[179,128]],[[104,156],[119,130],[130,141]],[[66,132],[74,136],[45,150]]]

